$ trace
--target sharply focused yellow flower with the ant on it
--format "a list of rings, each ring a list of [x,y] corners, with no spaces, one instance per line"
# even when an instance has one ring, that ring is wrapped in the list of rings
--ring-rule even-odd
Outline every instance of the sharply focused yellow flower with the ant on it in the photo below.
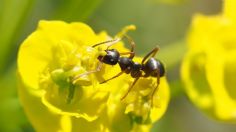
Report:
[[[127,26],[116,38],[134,28]],[[18,53],[19,96],[37,131],[145,131],[164,114],[169,101],[165,78],[150,107],[150,99],[142,97],[150,94],[155,78],[140,79],[121,101],[133,81],[130,75],[99,84],[119,73],[118,65],[103,64],[101,71],[77,77],[96,69],[97,57],[107,48],[92,45],[110,39],[83,23],[40,21],[23,42]],[[112,48],[129,51],[122,42]]]

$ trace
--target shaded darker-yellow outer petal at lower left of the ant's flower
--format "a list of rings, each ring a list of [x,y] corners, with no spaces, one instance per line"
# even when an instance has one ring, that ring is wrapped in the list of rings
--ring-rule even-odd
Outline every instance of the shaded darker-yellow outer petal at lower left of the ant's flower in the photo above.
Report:
[[[41,103],[40,96],[43,91],[31,89],[21,80],[18,81],[18,85],[20,101],[34,129],[39,132],[61,130],[61,116],[48,111],[46,106]]]

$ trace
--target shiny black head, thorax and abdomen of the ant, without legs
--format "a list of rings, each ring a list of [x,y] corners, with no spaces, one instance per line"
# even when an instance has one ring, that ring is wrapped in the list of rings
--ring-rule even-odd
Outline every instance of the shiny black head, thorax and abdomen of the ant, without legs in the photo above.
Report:
[[[118,63],[121,71],[130,74],[133,78],[149,76],[157,77],[158,74],[162,77],[165,74],[162,62],[153,57],[149,58],[146,63],[140,64],[134,62],[132,60],[133,57],[121,57],[116,49],[105,51],[107,54],[105,56],[99,56],[99,61],[109,65],[116,65]],[[142,75],[142,71],[145,73],[144,75]]]

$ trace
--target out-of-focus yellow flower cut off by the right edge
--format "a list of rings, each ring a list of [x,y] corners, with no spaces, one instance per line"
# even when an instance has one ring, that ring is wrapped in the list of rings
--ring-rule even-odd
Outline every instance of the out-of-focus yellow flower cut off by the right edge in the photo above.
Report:
[[[236,1],[220,15],[196,15],[188,36],[182,79],[189,98],[216,119],[236,122]]]

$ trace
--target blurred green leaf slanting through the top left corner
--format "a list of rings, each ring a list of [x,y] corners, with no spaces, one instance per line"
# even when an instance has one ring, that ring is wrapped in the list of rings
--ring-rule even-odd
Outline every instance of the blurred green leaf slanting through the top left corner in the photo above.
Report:
[[[25,20],[32,0],[1,0],[0,1],[0,73],[4,71],[11,50],[16,46],[15,38]]]

